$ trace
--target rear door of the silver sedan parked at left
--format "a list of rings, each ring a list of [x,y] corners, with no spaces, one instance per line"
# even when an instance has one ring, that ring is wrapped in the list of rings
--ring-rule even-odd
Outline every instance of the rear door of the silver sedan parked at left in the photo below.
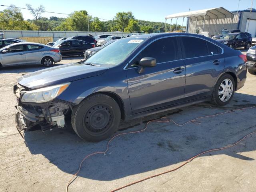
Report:
[[[42,50],[44,47],[40,45],[34,44],[26,44],[25,45],[25,56],[27,64],[38,64],[41,62],[44,51]]]

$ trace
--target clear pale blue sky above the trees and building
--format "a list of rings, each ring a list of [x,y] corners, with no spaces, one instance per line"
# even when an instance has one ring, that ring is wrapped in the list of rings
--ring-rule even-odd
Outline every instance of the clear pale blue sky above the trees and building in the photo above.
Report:
[[[165,22],[165,16],[169,14],[186,12],[190,9],[200,10],[206,8],[224,7],[227,10],[234,11],[238,9],[239,0],[1,0],[1,5],[14,4],[15,6],[26,8],[26,4],[31,4],[37,8],[42,4],[46,11],[72,13],[74,11],[86,10],[89,15],[110,20],[117,12],[131,11],[136,19],[155,22]],[[240,0],[239,10],[251,7],[252,0]],[[0,11],[6,7],[0,6]],[[256,0],[252,8],[256,8]],[[24,19],[33,19],[28,10],[22,10]],[[58,16],[67,17],[62,14],[43,13],[43,17]],[[170,23],[170,20],[167,20]],[[174,22],[174,21],[172,21]],[[175,21],[176,22],[176,21]],[[185,25],[184,21],[184,25]],[[182,24],[182,19],[178,20]]]

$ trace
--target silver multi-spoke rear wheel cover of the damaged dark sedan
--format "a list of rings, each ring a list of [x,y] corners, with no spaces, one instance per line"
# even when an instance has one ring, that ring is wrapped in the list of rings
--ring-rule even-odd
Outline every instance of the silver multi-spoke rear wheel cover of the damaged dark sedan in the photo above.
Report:
[[[233,83],[230,79],[224,79],[219,87],[218,95],[222,102],[228,101],[233,94]]]

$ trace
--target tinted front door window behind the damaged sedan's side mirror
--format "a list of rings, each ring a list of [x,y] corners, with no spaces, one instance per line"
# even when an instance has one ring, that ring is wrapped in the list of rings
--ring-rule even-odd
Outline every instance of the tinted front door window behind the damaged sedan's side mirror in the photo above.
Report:
[[[144,57],[156,58],[156,63],[179,59],[177,38],[168,37],[152,42],[132,60],[131,67],[138,66],[140,60]]]

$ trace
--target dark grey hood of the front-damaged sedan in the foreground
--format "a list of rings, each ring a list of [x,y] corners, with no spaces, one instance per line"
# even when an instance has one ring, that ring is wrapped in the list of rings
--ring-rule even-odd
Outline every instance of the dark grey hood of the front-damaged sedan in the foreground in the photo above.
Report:
[[[36,89],[103,74],[108,67],[80,63],[64,64],[33,72],[18,79],[21,86]]]

